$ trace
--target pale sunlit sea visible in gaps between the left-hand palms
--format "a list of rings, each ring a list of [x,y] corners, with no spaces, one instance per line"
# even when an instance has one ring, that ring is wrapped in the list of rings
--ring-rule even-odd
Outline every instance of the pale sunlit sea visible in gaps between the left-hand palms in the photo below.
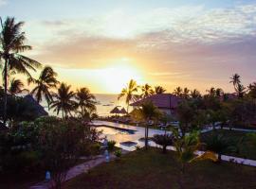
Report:
[[[123,99],[118,100],[118,94],[94,94],[96,97],[96,100],[98,104],[97,107],[97,113],[100,116],[109,116],[110,111],[112,111],[116,106],[119,106],[119,109],[121,108],[127,108],[125,105],[125,102]],[[52,110],[48,110],[46,100],[44,100],[41,103],[42,106],[44,106],[46,112],[48,112],[50,115],[56,115],[56,112],[53,112]],[[61,112],[60,114],[61,115]]]

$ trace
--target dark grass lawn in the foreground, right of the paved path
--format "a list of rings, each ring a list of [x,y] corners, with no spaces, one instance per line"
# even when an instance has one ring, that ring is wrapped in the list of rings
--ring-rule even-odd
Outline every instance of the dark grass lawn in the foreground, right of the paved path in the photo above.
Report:
[[[174,152],[167,155],[151,148],[122,157],[119,162],[103,163],[89,173],[70,180],[64,189],[107,188],[178,188],[178,163]],[[256,188],[256,168],[234,163],[197,162],[189,165],[186,189]]]

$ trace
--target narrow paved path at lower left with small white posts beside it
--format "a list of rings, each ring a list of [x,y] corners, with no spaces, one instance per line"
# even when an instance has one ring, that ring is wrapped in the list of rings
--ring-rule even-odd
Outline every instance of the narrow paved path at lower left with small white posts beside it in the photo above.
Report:
[[[126,154],[126,153],[128,153],[128,151],[122,150],[122,154]],[[116,157],[113,154],[110,155],[110,160],[114,160],[115,158]],[[88,172],[89,169],[95,166],[98,166],[99,164],[104,162],[105,162],[105,157],[103,155],[99,155],[94,157],[92,160],[88,162],[78,164],[69,169],[64,181],[71,180],[81,175],[82,173],[86,173]],[[42,181],[31,186],[29,189],[49,189],[52,186],[52,183],[53,183],[52,181]]]

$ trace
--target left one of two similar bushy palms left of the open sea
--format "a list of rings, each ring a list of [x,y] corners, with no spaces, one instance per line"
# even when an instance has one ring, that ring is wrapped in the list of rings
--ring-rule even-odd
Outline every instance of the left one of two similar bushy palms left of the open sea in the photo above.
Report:
[[[54,112],[57,112],[57,115],[62,111],[63,118],[68,114],[72,115],[71,112],[76,109],[76,101],[74,100],[75,93],[71,91],[70,88],[71,85],[61,83],[57,93],[52,95],[55,100],[52,101],[51,108],[54,109]]]

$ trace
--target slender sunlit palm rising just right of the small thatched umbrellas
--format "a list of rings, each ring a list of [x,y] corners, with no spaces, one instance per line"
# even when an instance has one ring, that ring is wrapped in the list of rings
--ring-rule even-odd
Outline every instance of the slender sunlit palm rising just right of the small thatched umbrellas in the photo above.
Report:
[[[118,99],[125,96],[125,103],[127,104],[127,112],[129,111],[129,104],[132,100],[137,98],[137,82],[133,79],[130,80],[127,87],[121,90]]]

